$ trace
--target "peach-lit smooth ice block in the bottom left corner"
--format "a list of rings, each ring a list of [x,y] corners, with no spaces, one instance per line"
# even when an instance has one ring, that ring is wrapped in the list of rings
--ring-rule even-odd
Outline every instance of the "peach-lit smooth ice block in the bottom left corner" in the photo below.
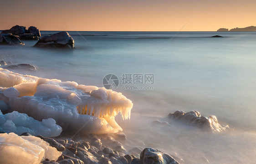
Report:
[[[1,164],[39,164],[44,159],[56,160],[62,153],[35,136],[0,134]]]

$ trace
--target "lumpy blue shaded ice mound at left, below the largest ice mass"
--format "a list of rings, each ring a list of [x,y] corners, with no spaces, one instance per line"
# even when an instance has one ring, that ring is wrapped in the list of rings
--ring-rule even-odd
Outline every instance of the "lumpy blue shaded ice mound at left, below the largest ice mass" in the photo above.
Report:
[[[56,137],[61,134],[62,128],[56,125],[56,121],[52,118],[37,121],[25,113],[13,111],[5,115],[0,112],[0,131],[14,132],[18,135],[27,132],[31,135]]]

